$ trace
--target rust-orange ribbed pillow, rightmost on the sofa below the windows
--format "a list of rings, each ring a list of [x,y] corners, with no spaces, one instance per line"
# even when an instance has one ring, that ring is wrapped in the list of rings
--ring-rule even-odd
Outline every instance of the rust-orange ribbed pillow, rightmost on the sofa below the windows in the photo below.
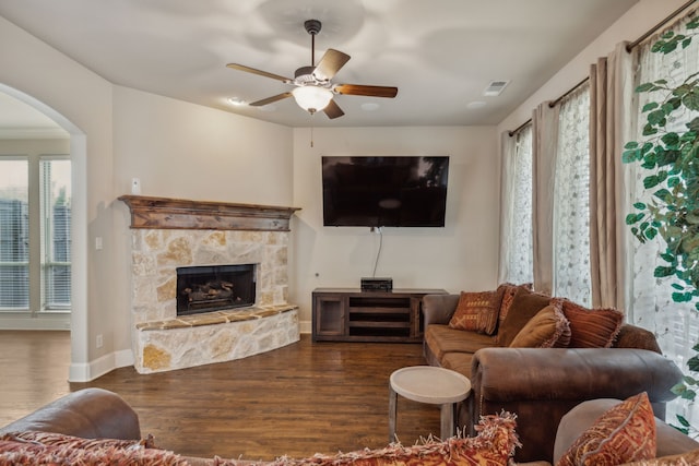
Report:
[[[570,322],[571,348],[608,348],[619,334],[624,314],[616,309],[588,309],[565,298],[560,301]]]

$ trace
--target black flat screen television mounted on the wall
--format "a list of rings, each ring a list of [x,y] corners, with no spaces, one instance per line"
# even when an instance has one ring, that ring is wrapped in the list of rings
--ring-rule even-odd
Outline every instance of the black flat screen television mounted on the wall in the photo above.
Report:
[[[323,225],[443,227],[448,156],[322,157]]]

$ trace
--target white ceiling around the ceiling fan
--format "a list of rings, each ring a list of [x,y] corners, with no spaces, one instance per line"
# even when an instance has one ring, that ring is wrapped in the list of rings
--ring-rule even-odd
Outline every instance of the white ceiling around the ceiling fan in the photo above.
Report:
[[[499,123],[637,1],[2,0],[0,14],[115,84],[261,120],[471,126]],[[398,97],[336,96],[334,120],[292,98],[229,105],[291,91],[225,64],[293,77],[310,64],[309,19],[323,23],[316,61],[328,48],[352,56],[333,83],[398,86]],[[486,97],[491,81],[510,84]]]

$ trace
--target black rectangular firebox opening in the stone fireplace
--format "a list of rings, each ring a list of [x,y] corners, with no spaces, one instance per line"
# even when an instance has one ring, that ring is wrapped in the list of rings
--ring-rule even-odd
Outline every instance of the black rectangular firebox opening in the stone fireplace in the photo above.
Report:
[[[254,264],[177,267],[177,315],[254,304]]]

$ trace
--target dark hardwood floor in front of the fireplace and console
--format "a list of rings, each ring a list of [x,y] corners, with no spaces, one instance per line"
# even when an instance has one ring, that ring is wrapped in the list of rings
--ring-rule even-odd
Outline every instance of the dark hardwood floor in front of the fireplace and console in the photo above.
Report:
[[[86,386],[119,393],[156,444],[196,456],[274,459],[381,447],[392,371],[419,344],[299,343],[236,361],[141,375],[132,367],[68,383],[68,332],[0,332],[0,423]],[[439,408],[399,397],[398,437],[439,434]]]

